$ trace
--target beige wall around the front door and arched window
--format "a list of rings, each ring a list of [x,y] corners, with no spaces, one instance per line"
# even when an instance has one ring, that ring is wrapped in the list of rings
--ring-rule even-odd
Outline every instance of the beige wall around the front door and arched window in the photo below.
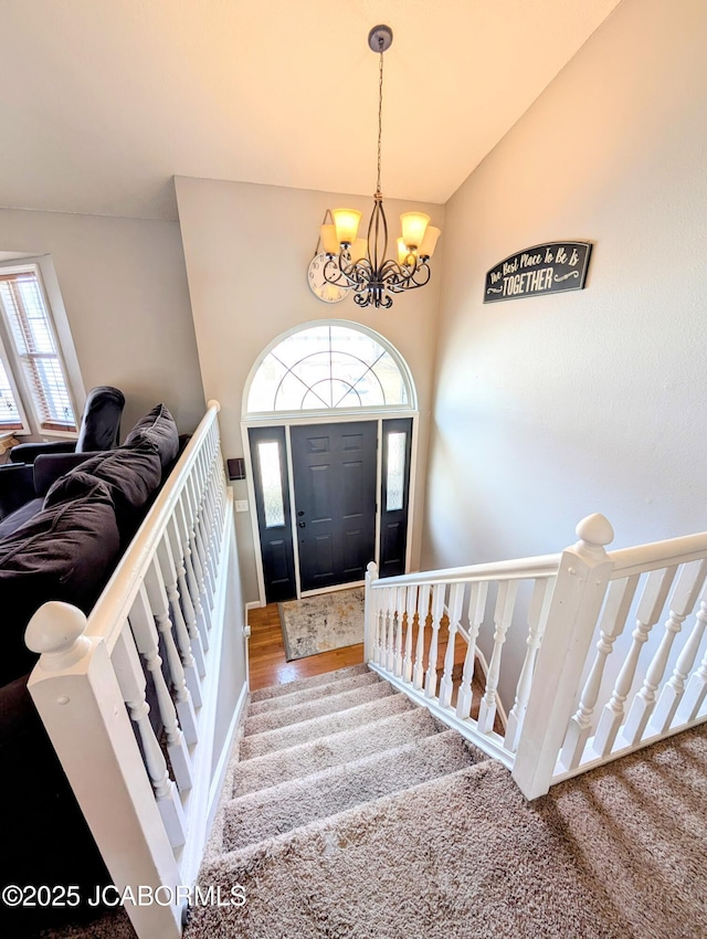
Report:
[[[415,493],[421,507],[442,241],[430,285],[398,297],[390,310],[360,309],[350,296],[339,304],[325,304],[307,285],[307,265],[324,213],[327,208],[351,205],[363,212],[367,223],[372,198],[183,177],[176,179],[176,189],[203,389],[208,399],[217,398],[222,405],[219,421],[224,455],[243,455],[241,397],[262,350],[297,324],[331,317],[356,320],[389,339],[411,368],[421,412],[422,458]],[[413,208],[426,211],[443,226],[440,205],[387,200],[392,236],[398,234],[399,214]],[[235,483],[234,489],[236,499],[246,498],[245,483]],[[254,601],[257,587],[250,515],[236,515],[236,531],[245,599]],[[421,513],[411,537],[416,563]]]

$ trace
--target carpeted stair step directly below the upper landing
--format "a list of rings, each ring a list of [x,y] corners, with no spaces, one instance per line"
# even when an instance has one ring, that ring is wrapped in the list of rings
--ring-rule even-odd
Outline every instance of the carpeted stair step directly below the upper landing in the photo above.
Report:
[[[274,837],[486,759],[455,730],[233,799],[223,851]]]

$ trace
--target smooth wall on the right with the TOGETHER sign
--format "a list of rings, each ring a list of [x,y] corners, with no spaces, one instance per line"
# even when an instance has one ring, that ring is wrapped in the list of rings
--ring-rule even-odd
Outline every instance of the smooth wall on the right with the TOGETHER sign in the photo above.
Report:
[[[707,528],[707,4],[624,0],[446,205],[423,567]],[[587,288],[488,268],[594,243]],[[524,648],[510,650],[516,658]]]

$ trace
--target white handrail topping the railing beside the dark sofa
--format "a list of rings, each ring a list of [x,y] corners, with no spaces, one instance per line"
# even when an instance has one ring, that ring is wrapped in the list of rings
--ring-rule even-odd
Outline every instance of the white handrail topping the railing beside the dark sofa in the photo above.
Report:
[[[145,577],[147,566],[150,563],[165,527],[173,514],[184,481],[189,477],[193,464],[199,458],[201,443],[220,410],[221,404],[218,401],[208,402],[207,412],[184,447],[169,479],[143,519],[129,548],[122,557],[120,563],[91,611],[86,635],[101,636],[105,641],[108,652],[112,651],[117,640],[122,624],[135,599],[135,593]]]

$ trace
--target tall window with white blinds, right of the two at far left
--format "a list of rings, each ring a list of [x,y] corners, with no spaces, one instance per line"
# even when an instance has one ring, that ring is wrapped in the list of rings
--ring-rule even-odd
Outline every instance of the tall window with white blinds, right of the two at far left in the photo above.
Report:
[[[44,292],[33,267],[12,273],[0,271],[0,312],[17,361],[19,374],[15,371],[15,380],[27,392],[40,433],[75,431],[76,416],[66,371]],[[11,412],[19,419],[20,410],[8,379],[3,368],[0,371],[0,425],[9,429],[4,419],[10,420]],[[21,420],[18,426],[22,426]]]

